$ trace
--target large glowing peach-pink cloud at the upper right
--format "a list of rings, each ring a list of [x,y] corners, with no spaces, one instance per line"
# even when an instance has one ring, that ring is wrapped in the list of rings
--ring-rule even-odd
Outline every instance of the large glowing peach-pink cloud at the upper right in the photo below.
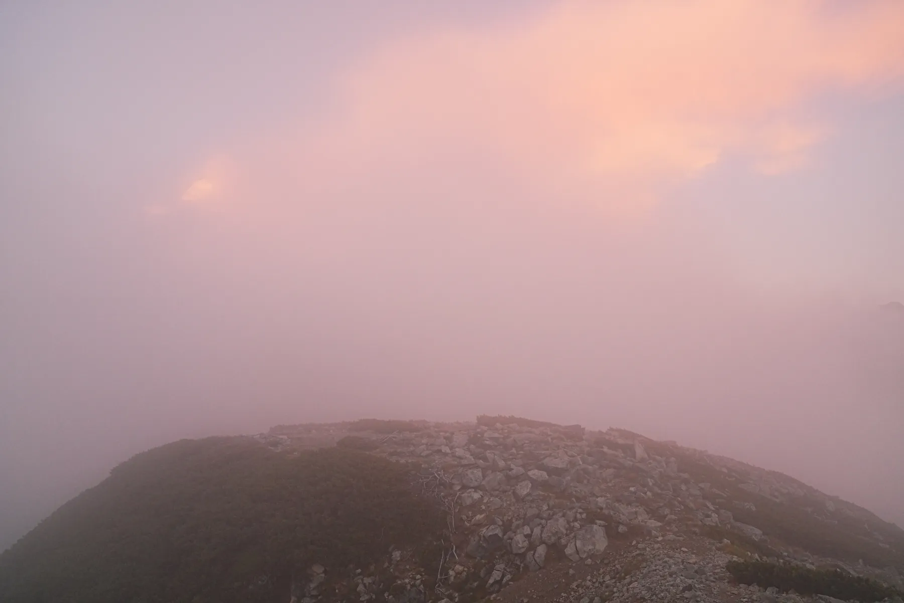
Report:
[[[799,169],[828,130],[815,95],[904,74],[904,4],[829,8],[578,1],[410,35],[342,74],[333,118],[293,161],[329,183],[472,154],[556,190],[615,191],[623,211],[727,154]]]

